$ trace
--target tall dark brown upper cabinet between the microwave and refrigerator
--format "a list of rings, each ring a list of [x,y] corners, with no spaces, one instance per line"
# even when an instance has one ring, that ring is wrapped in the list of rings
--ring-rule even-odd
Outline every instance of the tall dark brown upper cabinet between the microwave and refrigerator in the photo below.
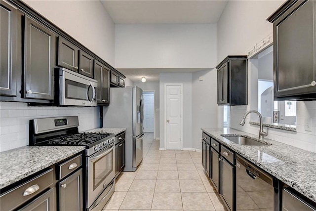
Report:
[[[94,60],[94,79],[98,81],[98,104],[110,103],[110,70],[100,61]]]

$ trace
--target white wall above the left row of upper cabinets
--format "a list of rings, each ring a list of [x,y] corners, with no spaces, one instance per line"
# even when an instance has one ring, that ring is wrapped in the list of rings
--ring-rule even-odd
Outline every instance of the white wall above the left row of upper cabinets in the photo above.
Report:
[[[23,0],[110,65],[114,22],[99,0]]]

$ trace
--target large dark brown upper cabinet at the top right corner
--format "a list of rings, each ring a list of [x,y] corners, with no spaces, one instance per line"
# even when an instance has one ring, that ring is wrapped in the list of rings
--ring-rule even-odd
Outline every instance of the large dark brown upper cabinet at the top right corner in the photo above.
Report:
[[[316,99],[316,1],[288,0],[273,23],[275,100]]]

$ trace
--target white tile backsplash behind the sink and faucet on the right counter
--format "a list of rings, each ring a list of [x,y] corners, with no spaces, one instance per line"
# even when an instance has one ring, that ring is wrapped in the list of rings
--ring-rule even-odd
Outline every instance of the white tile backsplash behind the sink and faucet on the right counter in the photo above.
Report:
[[[259,126],[249,124],[250,115],[247,116],[244,126],[239,125],[247,110],[250,110],[249,105],[231,106],[230,127],[257,135],[259,133]],[[269,128],[267,138],[316,152],[316,101],[297,101],[296,116],[296,132]],[[312,131],[305,130],[305,119],[312,119]]]

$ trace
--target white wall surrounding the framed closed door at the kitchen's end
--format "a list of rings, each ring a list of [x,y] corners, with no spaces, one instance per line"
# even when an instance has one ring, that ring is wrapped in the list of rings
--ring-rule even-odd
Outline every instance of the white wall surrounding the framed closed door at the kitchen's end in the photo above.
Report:
[[[164,148],[164,84],[183,84],[183,148],[192,148],[192,73],[160,73],[160,148]]]

